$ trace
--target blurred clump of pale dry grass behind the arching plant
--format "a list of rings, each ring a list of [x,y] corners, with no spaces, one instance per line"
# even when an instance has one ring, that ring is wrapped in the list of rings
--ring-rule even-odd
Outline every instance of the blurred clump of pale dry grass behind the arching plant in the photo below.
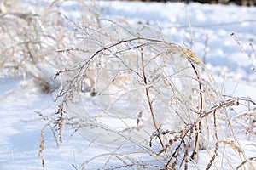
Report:
[[[9,4],[11,1],[3,3]],[[44,92],[59,88],[60,82],[53,80],[52,75],[57,69],[76,62],[71,56],[56,53],[56,49],[70,47],[76,42],[74,39],[76,32],[65,27],[65,21],[69,22],[69,20],[61,14],[62,3],[53,1],[49,4],[49,8],[36,8],[31,11],[23,8],[20,3],[16,6],[12,3],[13,8],[17,8],[15,12],[11,8],[2,10],[0,14],[2,76],[32,76]],[[80,3],[84,8],[89,8],[82,1]],[[58,8],[55,8],[56,6]],[[92,10],[88,13],[91,14]],[[92,16],[84,19],[85,24],[93,25],[94,22],[96,20]]]

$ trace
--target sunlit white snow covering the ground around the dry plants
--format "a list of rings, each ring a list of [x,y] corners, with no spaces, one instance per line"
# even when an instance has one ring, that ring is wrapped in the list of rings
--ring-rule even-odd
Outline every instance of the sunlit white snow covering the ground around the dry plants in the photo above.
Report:
[[[42,3],[42,6],[48,5],[49,3]],[[253,51],[256,49],[255,7],[200,3],[189,3],[184,7],[183,3],[119,1],[96,1],[96,5],[104,20],[126,20],[131,24],[152,26],[173,42],[193,49],[190,34],[192,31],[196,54],[212,72],[223,93],[256,100],[256,68],[253,71],[253,67],[256,67]],[[35,6],[37,5],[27,8],[27,12],[36,8]],[[79,22],[79,9],[76,3],[69,2],[65,3],[62,13]],[[70,25],[72,27],[72,23]],[[38,156],[41,130],[48,123],[47,116],[50,117],[57,110],[54,102],[56,94],[57,90],[50,94],[41,93],[30,77],[0,77],[0,169],[42,169]],[[245,132],[243,134],[242,129],[235,129],[247,158],[254,157],[254,167],[255,107],[251,107],[254,108],[254,124],[250,137]],[[247,125],[243,126],[246,129]],[[105,165],[106,160],[102,159],[104,156],[108,157],[110,149],[106,150],[102,145],[90,143],[79,133],[73,133],[70,127],[64,128],[62,140],[63,142],[57,145],[50,128],[45,128],[45,169],[79,169],[85,161],[88,161],[86,169],[113,166]],[[220,157],[212,169],[236,169],[241,164],[235,154],[236,150],[227,149],[225,152],[230,156],[230,164],[223,164]],[[94,156],[99,157],[91,159]],[[189,169],[205,169],[209,161],[207,156],[207,150],[201,150],[199,160],[195,164],[189,164]]]

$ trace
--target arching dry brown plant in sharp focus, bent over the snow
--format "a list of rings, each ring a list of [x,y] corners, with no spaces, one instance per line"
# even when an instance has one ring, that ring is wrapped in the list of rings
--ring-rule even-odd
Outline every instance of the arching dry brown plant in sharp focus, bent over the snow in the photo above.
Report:
[[[125,167],[188,168],[200,150],[213,148],[210,168],[226,138],[240,149],[226,110],[237,100],[223,99],[196,55],[160,31],[113,23],[60,52],[78,62],[55,74],[67,77],[56,98],[59,137],[64,123],[72,125],[109,151],[106,167],[115,157]],[[225,124],[230,134],[223,136]],[[242,150],[238,155],[245,160]]]

